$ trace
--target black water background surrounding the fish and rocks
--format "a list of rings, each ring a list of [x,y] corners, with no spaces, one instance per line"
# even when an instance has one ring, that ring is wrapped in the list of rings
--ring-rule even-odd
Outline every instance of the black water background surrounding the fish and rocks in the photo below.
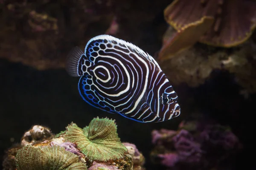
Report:
[[[140,26],[140,40],[132,32],[127,32],[127,36],[131,34],[131,40],[137,41],[137,45],[149,54],[154,55],[161,47],[157,35],[163,34],[164,30],[156,32],[155,28],[159,24],[167,28],[162,10],[168,4],[158,9],[154,20]],[[197,88],[189,88],[186,84],[174,87],[179,96],[181,115],[171,121],[149,124],[91,107],[79,96],[78,80],[69,77],[64,69],[38,71],[22,63],[0,59],[0,162],[4,150],[20,142],[20,137],[32,125],[44,125],[50,127],[53,133],[58,133],[70,122],[84,127],[96,116],[108,116],[116,119],[122,142],[134,143],[142,151],[146,158],[146,169],[159,169],[151,164],[149,158],[153,148],[151,131],[160,128],[175,130],[183,119],[189,119],[193,113],[201,113],[222,125],[230,125],[244,145],[237,161],[233,162],[235,169],[246,167],[252,170],[255,167],[256,95],[244,99],[232,74],[214,71],[207,82]],[[14,142],[11,142],[11,138],[14,138]]]

